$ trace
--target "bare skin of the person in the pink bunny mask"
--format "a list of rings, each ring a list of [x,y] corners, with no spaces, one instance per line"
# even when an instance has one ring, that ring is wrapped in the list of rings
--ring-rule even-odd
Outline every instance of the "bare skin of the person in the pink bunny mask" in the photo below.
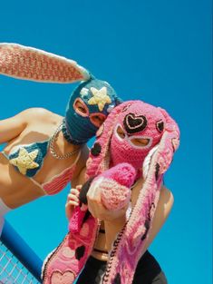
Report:
[[[117,130],[120,137],[124,138],[124,135],[121,129],[118,128]],[[137,146],[145,146],[149,142],[147,139],[136,139],[135,141],[132,140]],[[80,176],[80,183],[83,182],[83,174]],[[134,206],[136,201],[138,200],[140,189],[142,187],[143,180],[140,179],[135,186],[131,190],[131,206]],[[68,220],[71,218],[73,213],[74,206],[79,204],[78,196],[79,191],[81,190],[81,186],[78,186],[76,189],[71,189],[67,202],[65,205],[65,212]],[[105,230],[104,233],[99,233],[97,240],[94,244],[94,249],[102,250],[105,252],[97,252],[92,251],[92,256],[98,260],[108,260],[108,252],[111,250],[111,246],[113,241],[116,239],[116,236],[119,231],[124,226],[126,220],[126,208],[121,209],[120,211],[109,211],[102,205],[101,201],[101,190],[98,187],[92,186],[87,193],[87,200],[88,200],[88,209],[92,213],[92,216],[102,220],[101,229]],[[150,228],[149,234],[144,242],[143,252],[147,250],[150,246],[150,243],[158,232],[160,231],[161,227],[163,226],[164,222],[167,220],[169,216],[169,212],[173,206],[174,198],[171,193],[165,186],[162,186],[160,191],[160,200],[158,202],[153,220],[152,226]]]

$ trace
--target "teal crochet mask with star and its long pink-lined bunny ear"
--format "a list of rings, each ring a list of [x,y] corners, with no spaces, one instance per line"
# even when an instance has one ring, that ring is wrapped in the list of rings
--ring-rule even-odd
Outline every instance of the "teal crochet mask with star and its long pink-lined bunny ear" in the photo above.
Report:
[[[105,81],[63,56],[21,44],[0,44],[0,73],[40,83],[83,81],[71,94],[63,121],[63,135],[75,144],[94,136],[120,99]]]

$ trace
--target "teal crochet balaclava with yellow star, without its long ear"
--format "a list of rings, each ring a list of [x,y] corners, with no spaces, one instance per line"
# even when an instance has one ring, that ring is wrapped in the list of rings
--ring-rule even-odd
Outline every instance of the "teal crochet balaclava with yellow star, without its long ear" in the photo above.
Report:
[[[67,104],[63,120],[64,137],[73,144],[88,142],[119,102],[109,83],[95,78],[81,83]]]

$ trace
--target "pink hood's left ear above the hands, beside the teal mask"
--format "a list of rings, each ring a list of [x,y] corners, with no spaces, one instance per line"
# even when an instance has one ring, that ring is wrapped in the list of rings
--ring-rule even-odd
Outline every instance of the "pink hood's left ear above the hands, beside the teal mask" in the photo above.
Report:
[[[105,122],[96,133],[97,140],[94,142],[90,157],[87,160],[86,177],[93,177],[109,169],[110,164],[110,142],[114,130],[116,117],[123,109],[128,107],[132,101],[124,102],[116,106],[108,115]]]

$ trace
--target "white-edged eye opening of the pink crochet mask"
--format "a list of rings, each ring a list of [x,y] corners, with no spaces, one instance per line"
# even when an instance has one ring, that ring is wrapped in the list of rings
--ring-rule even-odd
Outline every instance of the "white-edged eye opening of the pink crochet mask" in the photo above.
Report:
[[[116,130],[118,136],[121,138],[121,140],[124,140],[126,138],[127,141],[131,142],[131,144],[133,146],[137,146],[137,147],[146,147],[146,146],[150,146],[150,138],[148,137],[140,137],[140,136],[129,136],[127,135],[121,128],[120,125],[118,125],[117,130]]]

